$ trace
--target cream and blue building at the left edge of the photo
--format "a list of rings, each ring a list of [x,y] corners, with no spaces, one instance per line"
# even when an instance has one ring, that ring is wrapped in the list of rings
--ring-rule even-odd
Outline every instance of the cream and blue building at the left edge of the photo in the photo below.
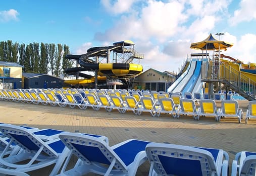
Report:
[[[21,88],[22,68],[18,63],[0,61],[0,89]]]

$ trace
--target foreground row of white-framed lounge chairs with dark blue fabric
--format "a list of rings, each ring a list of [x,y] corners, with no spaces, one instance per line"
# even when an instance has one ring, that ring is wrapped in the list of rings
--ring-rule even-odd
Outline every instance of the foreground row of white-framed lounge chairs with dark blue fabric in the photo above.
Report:
[[[148,160],[149,175],[228,175],[229,155],[222,149],[138,139],[110,146],[102,135],[11,124],[0,124],[0,131],[1,139],[8,141],[1,151],[1,174],[27,176],[54,164],[49,175],[135,175]],[[72,164],[74,157],[78,159]],[[231,175],[255,175],[255,162],[256,153],[237,153]]]

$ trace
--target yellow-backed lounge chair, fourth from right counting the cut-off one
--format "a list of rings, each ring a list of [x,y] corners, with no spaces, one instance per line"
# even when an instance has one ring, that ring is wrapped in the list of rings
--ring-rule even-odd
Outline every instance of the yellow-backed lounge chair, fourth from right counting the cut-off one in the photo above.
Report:
[[[195,106],[195,102],[191,99],[181,99],[180,100],[180,108],[177,110],[177,118],[180,117],[181,114],[184,115],[192,115],[194,120],[197,120],[197,109]]]

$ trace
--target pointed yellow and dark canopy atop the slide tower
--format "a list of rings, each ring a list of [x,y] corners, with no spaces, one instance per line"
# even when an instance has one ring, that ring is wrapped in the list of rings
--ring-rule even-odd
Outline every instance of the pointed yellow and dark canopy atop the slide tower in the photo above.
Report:
[[[201,42],[191,43],[190,48],[199,50],[227,50],[233,43],[217,40],[212,34]]]

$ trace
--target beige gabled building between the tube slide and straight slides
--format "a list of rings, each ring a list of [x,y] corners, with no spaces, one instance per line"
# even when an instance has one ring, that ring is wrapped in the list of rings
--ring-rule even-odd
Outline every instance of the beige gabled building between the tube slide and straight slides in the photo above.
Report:
[[[165,91],[175,81],[173,72],[161,72],[152,68],[135,77],[133,89]]]

